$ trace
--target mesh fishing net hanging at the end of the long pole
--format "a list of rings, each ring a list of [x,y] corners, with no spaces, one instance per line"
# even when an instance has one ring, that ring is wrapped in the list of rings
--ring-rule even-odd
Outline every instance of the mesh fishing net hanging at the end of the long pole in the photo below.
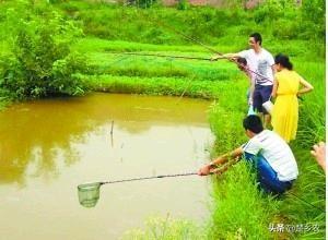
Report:
[[[79,202],[84,207],[94,207],[99,200],[101,182],[78,185]]]

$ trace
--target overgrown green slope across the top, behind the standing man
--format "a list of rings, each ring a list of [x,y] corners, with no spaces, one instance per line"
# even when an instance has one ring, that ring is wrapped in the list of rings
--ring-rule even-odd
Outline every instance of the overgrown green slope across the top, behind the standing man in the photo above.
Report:
[[[166,25],[209,45],[226,39],[230,45],[235,46],[241,34],[247,37],[253,32],[260,32],[265,43],[267,39],[312,39],[319,46],[325,46],[323,1],[304,1],[300,8],[293,1],[271,0],[247,11],[243,8],[222,10],[208,7],[190,7],[184,11],[157,7],[142,11],[114,4],[86,4],[71,1],[58,7],[74,20],[83,21],[85,34],[110,40],[195,44],[173,33],[164,26]],[[231,4],[243,5],[244,1],[234,1]],[[317,12],[318,17],[315,17]],[[307,14],[313,14],[314,17],[307,17]],[[244,48],[245,45],[241,47]],[[325,51],[321,51],[321,56],[324,55]]]

